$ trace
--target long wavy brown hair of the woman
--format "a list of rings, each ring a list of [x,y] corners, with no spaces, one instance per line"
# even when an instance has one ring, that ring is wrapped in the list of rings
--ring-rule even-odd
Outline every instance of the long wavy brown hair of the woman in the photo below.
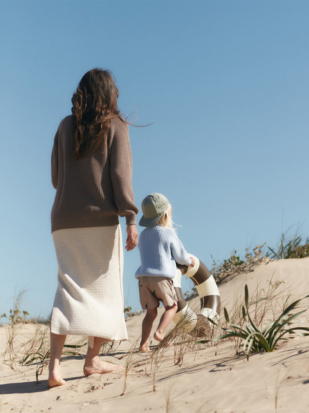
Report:
[[[120,115],[113,74],[109,70],[92,69],[81,79],[72,97],[74,117],[74,157],[82,158],[99,147],[104,151],[113,118]]]

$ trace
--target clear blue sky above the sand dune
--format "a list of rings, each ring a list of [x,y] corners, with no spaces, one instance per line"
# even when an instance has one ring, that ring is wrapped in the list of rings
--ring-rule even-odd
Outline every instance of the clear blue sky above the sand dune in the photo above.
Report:
[[[282,228],[306,238],[308,20],[300,1],[0,2],[0,311],[26,289],[21,308],[50,314],[50,154],[93,67],[113,71],[123,114],[153,123],[130,127],[136,203],[166,195],[188,252],[211,267]],[[125,252],[133,309],[138,266]]]

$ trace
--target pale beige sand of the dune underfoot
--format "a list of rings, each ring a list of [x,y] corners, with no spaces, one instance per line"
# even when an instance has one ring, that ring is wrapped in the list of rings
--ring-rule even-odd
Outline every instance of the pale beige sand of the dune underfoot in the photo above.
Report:
[[[271,261],[259,264],[250,273],[229,277],[219,286],[223,306],[232,311],[235,297],[244,297],[246,283],[250,296],[256,288],[263,295],[270,280],[272,285],[278,285],[276,292],[291,294],[289,302],[304,297],[309,293],[309,258]],[[282,302],[281,296],[277,301],[278,305]],[[308,298],[304,304],[309,305]],[[198,300],[190,306],[198,306]],[[271,307],[267,310],[272,312]],[[304,313],[299,325],[308,326],[308,317],[309,313]],[[47,389],[47,367],[36,383],[35,364],[17,363],[16,370],[12,370],[1,356],[0,412],[309,412],[308,337],[285,339],[275,351],[251,354],[249,361],[242,352],[236,354],[233,340],[196,344],[185,351],[179,365],[175,355],[177,358],[180,346],[173,342],[157,360],[152,352],[127,354],[138,347],[142,319],[143,315],[139,315],[127,320],[129,340],[104,357],[122,366],[128,363],[126,379],[124,372],[83,377],[83,356],[68,356],[61,361],[66,385]],[[24,325],[16,339],[25,342],[35,328],[33,324]],[[155,328],[156,325],[153,332]],[[76,342],[80,338],[70,337],[71,342],[74,339]],[[2,326],[1,354],[6,347],[6,327]],[[19,354],[23,349],[26,347]]]

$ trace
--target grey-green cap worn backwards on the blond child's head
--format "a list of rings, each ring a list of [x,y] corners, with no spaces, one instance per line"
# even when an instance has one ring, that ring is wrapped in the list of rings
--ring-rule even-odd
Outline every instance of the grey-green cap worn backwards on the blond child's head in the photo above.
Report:
[[[152,227],[161,218],[163,212],[167,210],[168,199],[157,192],[148,195],[142,201],[143,216],[139,220],[142,227]]]

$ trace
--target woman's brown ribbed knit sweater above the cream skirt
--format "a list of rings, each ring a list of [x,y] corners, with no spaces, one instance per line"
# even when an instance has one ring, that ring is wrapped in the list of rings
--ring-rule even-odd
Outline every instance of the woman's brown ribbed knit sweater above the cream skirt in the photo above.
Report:
[[[128,127],[111,123],[107,147],[82,159],[73,157],[73,115],[64,118],[54,138],[52,232],[65,228],[117,225],[118,215],[136,223],[132,190],[132,155]],[[103,153],[102,153],[103,152]]]

